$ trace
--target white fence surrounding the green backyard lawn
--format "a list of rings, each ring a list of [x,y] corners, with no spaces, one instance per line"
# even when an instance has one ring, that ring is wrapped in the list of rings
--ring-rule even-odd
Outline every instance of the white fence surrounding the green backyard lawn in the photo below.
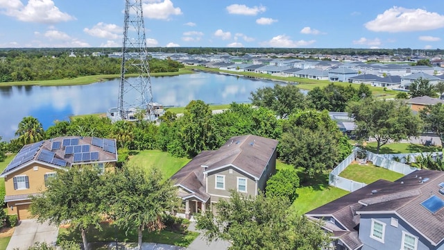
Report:
[[[339,165],[337,165],[332,172],[330,172],[329,181],[328,183],[336,188],[341,188],[343,190],[347,190],[348,192],[354,192],[356,190],[359,190],[359,188],[363,188],[366,186],[366,183],[360,183],[357,181],[349,180],[348,178],[343,178],[339,176],[341,172],[345,168],[348,167],[354,160],[361,160],[366,163],[367,161],[370,161],[373,163],[373,165],[378,167],[384,167],[388,170],[391,170],[393,172],[398,172],[400,174],[410,174],[411,172],[414,172],[418,170],[416,167],[411,167],[410,165],[404,164],[404,163],[414,163],[416,157],[422,155],[427,156],[430,153],[391,153],[391,154],[376,154],[372,153],[370,151],[364,151],[362,149],[359,149],[355,147],[353,149],[350,156],[345,158]],[[432,157],[436,158],[436,156],[441,156],[442,152],[436,152],[432,153]],[[400,161],[403,161],[404,163],[400,163],[398,161],[393,160],[395,159],[403,159]]]

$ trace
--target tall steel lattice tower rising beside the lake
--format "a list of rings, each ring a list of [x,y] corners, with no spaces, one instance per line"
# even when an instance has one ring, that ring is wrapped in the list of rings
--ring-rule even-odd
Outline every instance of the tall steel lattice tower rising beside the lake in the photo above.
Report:
[[[121,58],[116,115],[119,115],[120,119],[134,120],[135,113],[146,110],[144,119],[153,119],[153,92],[146,51],[142,0],[126,0]],[[132,77],[128,81],[126,74],[137,74],[137,78]]]

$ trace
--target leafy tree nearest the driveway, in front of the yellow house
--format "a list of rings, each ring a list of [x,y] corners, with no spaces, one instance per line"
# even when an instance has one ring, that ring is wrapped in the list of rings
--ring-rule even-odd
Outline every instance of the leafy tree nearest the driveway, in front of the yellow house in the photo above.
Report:
[[[98,191],[104,185],[103,175],[95,167],[71,167],[60,170],[50,178],[42,195],[31,197],[31,213],[39,222],[60,226],[69,222],[80,230],[84,249],[88,249],[87,228],[101,228],[105,211],[103,197]]]

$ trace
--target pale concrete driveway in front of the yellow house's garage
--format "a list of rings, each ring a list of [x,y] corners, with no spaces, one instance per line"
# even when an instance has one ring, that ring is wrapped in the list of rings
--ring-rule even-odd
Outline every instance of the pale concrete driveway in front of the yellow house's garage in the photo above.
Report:
[[[55,244],[58,235],[58,227],[48,223],[40,224],[37,219],[24,219],[15,227],[6,250],[26,250],[35,242]]]

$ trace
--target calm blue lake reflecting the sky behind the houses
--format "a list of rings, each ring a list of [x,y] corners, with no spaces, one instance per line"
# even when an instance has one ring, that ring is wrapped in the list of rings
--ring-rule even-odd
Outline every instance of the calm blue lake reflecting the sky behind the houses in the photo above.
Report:
[[[249,102],[250,92],[274,82],[199,73],[153,77],[151,84],[153,101],[186,106],[197,99],[205,103]],[[118,79],[76,86],[0,87],[0,136],[6,141],[14,138],[17,125],[28,115],[39,119],[46,129],[71,115],[105,113],[117,106],[118,87]]]

